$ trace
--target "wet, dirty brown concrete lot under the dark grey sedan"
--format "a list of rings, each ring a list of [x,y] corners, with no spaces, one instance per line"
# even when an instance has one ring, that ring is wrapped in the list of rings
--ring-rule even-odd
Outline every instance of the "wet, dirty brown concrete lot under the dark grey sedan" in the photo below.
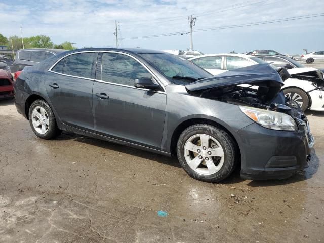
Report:
[[[0,242],[323,242],[324,113],[307,114],[309,168],[209,184],[161,155],[69,134],[41,140],[0,101]]]

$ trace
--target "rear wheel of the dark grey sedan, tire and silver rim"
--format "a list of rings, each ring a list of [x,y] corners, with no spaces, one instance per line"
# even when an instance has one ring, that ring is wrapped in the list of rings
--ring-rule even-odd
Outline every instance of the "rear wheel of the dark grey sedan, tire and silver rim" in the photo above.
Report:
[[[53,139],[61,133],[50,105],[44,100],[35,100],[29,107],[29,124],[39,138]]]

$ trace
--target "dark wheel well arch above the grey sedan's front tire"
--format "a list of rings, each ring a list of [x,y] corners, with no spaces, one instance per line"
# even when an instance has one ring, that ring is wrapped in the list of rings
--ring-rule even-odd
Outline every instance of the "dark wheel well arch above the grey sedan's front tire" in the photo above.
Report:
[[[209,119],[205,119],[205,118],[193,118],[193,119],[189,119],[189,120],[185,120],[183,121],[183,123],[181,123],[173,132],[172,134],[172,138],[171,138],[171,155],[172,156],[177,156],[177,142],[178,142],[178,138],[180,136],[180,134],[188,127],[195,125],[195,124],[209,124],[209,125],[213,125],[215,127],[221,128],[224,131],[226,131],[228,133],[228,135],[233,139],[233,142],[235,144],[235,147],[237,149],[237,153],[238,156],[236,157],[237,162],[240,164],[240,149],[238,146],[238,143],[236,141],[236,139],[234,138],[233,134],[231,134],[231,132],[229,132],[224,126],[220,125],[219,123],[216,123],[216,121],[213,120],[209,120]],[[238,165],[240,167],[240,165]]]

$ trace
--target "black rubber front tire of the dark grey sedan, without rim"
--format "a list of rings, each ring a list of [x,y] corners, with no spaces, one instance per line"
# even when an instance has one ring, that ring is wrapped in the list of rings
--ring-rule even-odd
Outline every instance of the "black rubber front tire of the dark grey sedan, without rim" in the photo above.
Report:
[[[214,174],[204,175],[194,171],[186,162],[184,146],[188,139],[197,134],[206,134],[216,139],[224,151],[224,163],[219,171]],[[227,178],[234,170],[236,159],[235,142],[227,132],[208,124],[196,124],[186,128],[179,136],[177,155],[182,168],[194,179],[205,182],[218,182]],[[187,155],[188,156],[188,155]]]

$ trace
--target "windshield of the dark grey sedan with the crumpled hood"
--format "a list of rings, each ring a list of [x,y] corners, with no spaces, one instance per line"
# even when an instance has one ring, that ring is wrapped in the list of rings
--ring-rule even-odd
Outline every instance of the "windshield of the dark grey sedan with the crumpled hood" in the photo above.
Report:
[[[164,53],[142,53],[139,55],[174,84],[187,84],[212,76],[204,69],[176,55]]]

